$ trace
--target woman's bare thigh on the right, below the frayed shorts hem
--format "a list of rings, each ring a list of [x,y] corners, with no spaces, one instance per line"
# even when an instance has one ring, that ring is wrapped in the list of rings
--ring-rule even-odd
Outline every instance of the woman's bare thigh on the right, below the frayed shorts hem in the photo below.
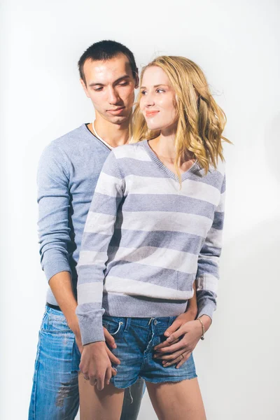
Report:
[[[197,378],[146,386],[159,420],[206,420]]]

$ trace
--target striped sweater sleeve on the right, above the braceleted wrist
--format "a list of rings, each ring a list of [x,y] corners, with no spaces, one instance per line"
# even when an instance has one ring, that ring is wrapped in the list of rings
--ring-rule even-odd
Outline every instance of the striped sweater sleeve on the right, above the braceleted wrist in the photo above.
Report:
[[[214,214],[214,221],[200,250],[197,264],[197,318],[208,315],[213,318],[219,279],[223,220],[225,214],[225,176],[221,187],[221,199]]]

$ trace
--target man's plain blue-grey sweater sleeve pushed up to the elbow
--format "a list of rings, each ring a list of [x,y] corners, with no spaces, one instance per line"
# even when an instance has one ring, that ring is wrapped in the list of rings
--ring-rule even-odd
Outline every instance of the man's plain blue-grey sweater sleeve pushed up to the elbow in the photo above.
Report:
[[[55,274],[68,271],[69,178],[62,152],[51,143],[38,164],[38,237],[41,266],[48,281]]]

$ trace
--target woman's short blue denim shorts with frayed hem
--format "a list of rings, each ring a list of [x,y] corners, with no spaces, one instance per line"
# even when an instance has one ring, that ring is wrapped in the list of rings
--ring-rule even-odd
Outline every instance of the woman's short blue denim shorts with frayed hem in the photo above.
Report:
[[[153,347],[165,341],[164,332],[174,322],[176,316],[159,318],[125,318],[103,316],[103,325],[114,337],[116,349],[113,354],[120,359],[120,365],[113,364],[117,374],[111,378],[116,388],[127,388],[139,377],[145,381],[177,382],[197,377],[193,353],[179,369],[176,364],[163,367],[162,360],[153,358]]]

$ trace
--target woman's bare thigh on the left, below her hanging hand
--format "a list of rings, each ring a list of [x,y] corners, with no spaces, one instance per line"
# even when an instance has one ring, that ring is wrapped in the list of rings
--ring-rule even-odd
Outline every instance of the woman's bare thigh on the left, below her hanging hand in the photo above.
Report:
[[[78,384],[80,420],[120,420],[124,389],[109,384],[102,391],[98,391],[96,386],[85,380],[81,372],[78,375]]]

